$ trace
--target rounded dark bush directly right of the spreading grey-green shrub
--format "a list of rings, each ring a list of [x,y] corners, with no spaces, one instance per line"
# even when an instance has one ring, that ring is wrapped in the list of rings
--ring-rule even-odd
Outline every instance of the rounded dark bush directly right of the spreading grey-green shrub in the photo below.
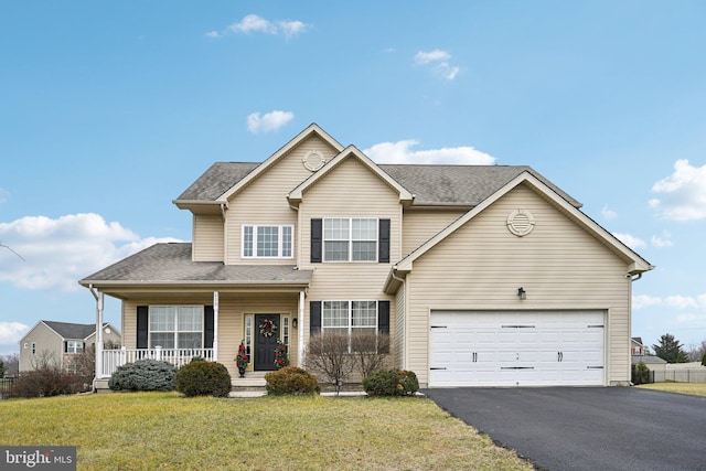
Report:
[[[216,362],[192,361],[179,368],[174,384],[186,397],[227,397],[231,393],[228,370]]]

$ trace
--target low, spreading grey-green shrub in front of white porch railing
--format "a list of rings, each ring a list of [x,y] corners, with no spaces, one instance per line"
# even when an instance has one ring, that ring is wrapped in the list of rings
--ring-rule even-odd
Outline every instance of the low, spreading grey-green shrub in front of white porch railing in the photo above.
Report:
[[[118,366],[108,387],[113,390],[174,390],[176,366],[157,360],[138,360]]]

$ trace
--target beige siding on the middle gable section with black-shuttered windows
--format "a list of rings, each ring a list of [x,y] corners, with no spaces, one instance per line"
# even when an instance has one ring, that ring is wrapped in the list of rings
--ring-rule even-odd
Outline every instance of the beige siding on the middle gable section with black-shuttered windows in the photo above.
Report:
[[[314,270],[310,300],[389,300],[391,335],[395,335],[394,298],[383,292],[392,263],[399,259],[402,205],[392,190],[356,158],[351,157],[304,192],[299,205],[301,249],[299,266]],[[391,220],[389,264],[311,264],[311,220],[325,217],[375,217]],[[307,315],[309,304],[307,302]],[[308,341],[309,332],[306,333]]]

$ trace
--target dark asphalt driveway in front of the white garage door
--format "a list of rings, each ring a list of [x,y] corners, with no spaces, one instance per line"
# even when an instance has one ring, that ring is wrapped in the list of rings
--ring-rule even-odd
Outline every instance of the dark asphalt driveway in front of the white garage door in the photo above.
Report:
[[[706,470],[706,398],[634,387],[424,393],[537,468]]]

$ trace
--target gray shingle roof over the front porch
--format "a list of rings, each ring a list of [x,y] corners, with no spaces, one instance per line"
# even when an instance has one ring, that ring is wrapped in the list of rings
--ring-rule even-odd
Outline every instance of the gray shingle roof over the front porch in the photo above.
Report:
[[[293,265],[224,265],[222,261],[192,261],[190,243],[156,244],[79,282],[124,281],[140,283],[308,283],[312,271]]]

